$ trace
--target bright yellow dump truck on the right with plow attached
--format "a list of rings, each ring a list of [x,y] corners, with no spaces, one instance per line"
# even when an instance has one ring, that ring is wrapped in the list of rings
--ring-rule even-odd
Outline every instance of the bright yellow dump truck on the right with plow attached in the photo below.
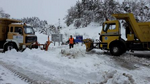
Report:
[[[114,56],[120,56],[126,51],[150,51],[150,22],[137,22],[132,13],[113,14],[116,20],[105,21],[101,30],[99,42],[84,39],[86,51],[92,49],[108,50]],[[124,20],[126,40],[121,36],[121,23]]]

